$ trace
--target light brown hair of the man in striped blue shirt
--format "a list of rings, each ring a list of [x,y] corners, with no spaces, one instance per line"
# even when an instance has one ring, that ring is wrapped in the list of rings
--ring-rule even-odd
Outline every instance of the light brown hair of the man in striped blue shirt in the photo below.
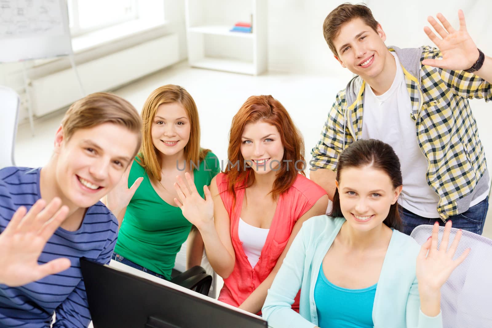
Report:
[[[74,102],[62,119],[63,137],[69,140],[78,129],[91,128],[103,123],[126,127],[136,134],[137,153],[142,142],[142,121],[135,107],[122,97],[109,92],[96,92]]]

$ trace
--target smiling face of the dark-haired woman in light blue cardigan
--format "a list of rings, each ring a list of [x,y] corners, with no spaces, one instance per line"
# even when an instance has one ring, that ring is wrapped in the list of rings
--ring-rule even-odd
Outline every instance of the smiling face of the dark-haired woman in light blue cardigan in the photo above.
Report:
[[[393,187],[388,174],[372,166],[344,168],[337,187],[341,212],[359,231],[380,226],[401,192],[401,186]]]

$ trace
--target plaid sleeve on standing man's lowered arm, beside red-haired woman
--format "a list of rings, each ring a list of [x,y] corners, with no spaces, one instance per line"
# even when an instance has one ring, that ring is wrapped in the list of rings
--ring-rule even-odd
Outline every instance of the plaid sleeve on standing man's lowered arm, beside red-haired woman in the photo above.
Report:
[[[342,90],[338,92],[337,99],[328,113],[328,118],[321,131],[321,139],[311,150],[312,160],[309,164],[313,168],[335,171],[343,147],[353,142],[343,116],[346,108],[345,90]]]

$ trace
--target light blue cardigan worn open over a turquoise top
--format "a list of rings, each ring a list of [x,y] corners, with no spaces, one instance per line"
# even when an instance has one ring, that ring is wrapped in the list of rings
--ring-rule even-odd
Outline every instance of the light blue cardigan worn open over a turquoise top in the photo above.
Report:
[[[263,317],[273,328],[313,328],[318,325],[314,286],[321,262],[338,235],[343,217],[308,219],[294,239],[268,290]],[[372,321],[376,328],[442,327],[441,314],[428,317],[420,310],[415,266],[420,246],[411,237],[393,231],[377,282]],[[334,263],[333,265],[337,265]],[[364,272],[361,272],[364,274]],[[301,289],[299,314],[291,309]]]

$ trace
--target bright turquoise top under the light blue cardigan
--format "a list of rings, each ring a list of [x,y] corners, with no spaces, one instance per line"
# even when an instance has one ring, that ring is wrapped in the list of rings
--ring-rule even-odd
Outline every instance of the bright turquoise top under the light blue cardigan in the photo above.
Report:
[[[364,289],[347,289],[336,286],[328,280],[319,268],[314,285],[314,302],[321,328],[372,328],[372,305],[376,286]]]

